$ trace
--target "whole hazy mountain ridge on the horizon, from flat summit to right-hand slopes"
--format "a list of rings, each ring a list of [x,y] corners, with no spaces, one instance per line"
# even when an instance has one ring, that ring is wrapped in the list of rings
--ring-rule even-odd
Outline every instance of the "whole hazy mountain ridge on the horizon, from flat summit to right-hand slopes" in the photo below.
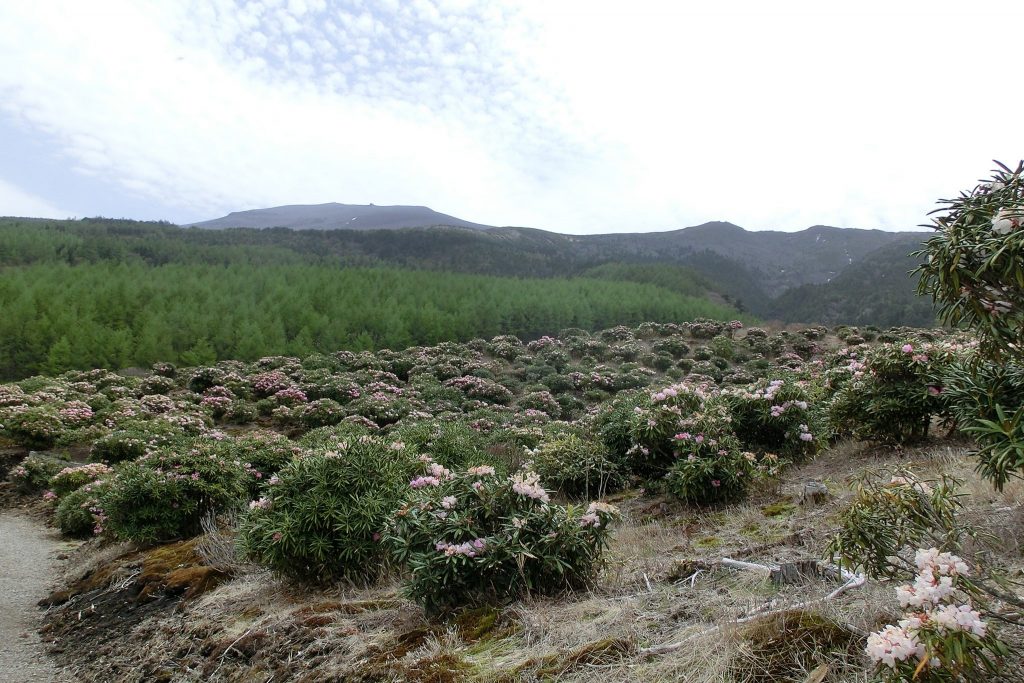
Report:
[[[305,209],[321,218],[292,220],[296,211]],[[330,224],[322,218],[325,210],[336,217],[343,212],[340,217],[347,223],[341,229],[323,227]],[[372,214],[376,223],[362,220],[360,225],[358,216],[367,214],[352,215],[357,210]],[[431,225],[400,225],[423,221]],[[223,229],[240,222],[292,224]],[[367,229],[373,224],[378,227]],[[182,246],[202,250],[202,245],[262,245],[284,250],[281,254],[287,258],[325,264],[390,264],[514,278],[579,276],[605,264],[621,264],[626,269],[595,272],[639,281],[655,274],[637,268],[656,270],[664,264],[691,270],[711,283],[709,292],[764,319],[854,325],[884,319],[924,327],[935,323],[931,301],[916,297],[915,279],[907,276],[916,265],[908,255],[928,238],[921,231],[821,224],[795,232],[746,230],[718,220],[657,232],[565,234],[469,223],[427,207],[342,204],[236,212],[185,228],[166,225],[173,227],[168,237],[176,234]],[[123,245],[109,247],[120,250]],[[139,255],[145,258],[147,253],[142,249]],[[656,273],[656,280],[676,282],[663,271]]]

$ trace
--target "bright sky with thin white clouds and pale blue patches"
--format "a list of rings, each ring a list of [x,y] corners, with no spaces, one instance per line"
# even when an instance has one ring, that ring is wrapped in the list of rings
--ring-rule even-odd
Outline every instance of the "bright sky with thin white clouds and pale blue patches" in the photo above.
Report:
[[[1024,158],[1024,3],[0,2],[0,215],[913,229]]]

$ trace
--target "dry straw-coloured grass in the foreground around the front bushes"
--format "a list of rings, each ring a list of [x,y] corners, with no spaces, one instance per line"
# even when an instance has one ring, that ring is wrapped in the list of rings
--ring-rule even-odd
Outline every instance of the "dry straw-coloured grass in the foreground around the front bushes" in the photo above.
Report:
[[[616,501],[625,518],[592,591],[447,622],[426,620],[395,581],[360,590],[284,583],[238,562],[231,524],[210,524],[197,550],[236,578],[148,616],[90,660],[79,658],[80,680],[803,683],[824,666],[828,683],[862,683],[863,633],[897,616],[891,585],[868,582],[821,602],[835,582],[776,586],[764,572],[720,560],[820,558],[852,478],[883,466],[961,478],[969,518],[994,535],[980,550],[1020,571],[1024,483],[991,490],[962,443],[894,451],[845,442],[722,510],[625,493]],[[807,481],[826,483],[828,499],[798,504]],[[83,548],[79,575],[118,552]],[[1024,645],[1021,634],[1009,640]],[[681,641],[664,653],[643,651]]]

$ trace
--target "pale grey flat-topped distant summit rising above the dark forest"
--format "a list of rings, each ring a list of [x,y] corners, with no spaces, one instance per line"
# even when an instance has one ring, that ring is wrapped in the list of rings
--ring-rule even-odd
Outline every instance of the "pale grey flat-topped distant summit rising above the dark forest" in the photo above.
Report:
[[[400,227],[454,225],[480,230],[489,225],[437,213],[425,206],[374,204],[295,204],[268,209],[233,211],[223,218],[193,223],[191,227],[291,227],[297,230],[393,230]]]

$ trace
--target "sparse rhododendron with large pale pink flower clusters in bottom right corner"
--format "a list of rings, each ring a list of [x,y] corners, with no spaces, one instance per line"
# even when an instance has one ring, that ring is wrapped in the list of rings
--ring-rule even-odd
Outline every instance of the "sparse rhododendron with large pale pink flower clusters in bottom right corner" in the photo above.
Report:
[[[976,535],[961,499],[951,477],[882,472],[858,483],[841,516],[829,544],[834,556],[870,577],[910,582],[895,588],[902,618],[867,638],[881,680],[986,680],[1001,670],[1009,650],[989,617],[1015,623],[1024,605],[990,571],[953,554]],[[923,543],[939,546],[922,549]]]

